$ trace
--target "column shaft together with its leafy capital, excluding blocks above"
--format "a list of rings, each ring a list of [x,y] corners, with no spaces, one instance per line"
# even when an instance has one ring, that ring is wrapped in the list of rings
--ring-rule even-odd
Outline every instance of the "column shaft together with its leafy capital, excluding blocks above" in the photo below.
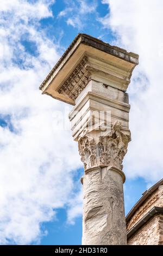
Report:
[[[79,139],[79,152],[85,165],[83,245],[125,245],[125,176],[121,169],[130,137],[121,132],[118,121],[109,135],[99,134],[87,133]]]

